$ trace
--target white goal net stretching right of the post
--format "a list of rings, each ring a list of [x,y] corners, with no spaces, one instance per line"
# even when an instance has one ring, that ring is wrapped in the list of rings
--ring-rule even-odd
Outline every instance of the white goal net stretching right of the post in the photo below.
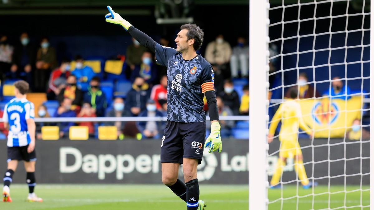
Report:
[[[269,1],[268,209],[368,209],[370,1]]]

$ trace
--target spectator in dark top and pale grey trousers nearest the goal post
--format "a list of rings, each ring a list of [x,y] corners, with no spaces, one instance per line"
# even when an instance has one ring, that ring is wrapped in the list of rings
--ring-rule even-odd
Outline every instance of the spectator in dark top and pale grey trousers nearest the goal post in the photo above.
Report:
[[[249,74],[249,46],[244,37],[237,38],[237,46],[233,48],[233,54],[230,59],[231,77],[248,77]]]

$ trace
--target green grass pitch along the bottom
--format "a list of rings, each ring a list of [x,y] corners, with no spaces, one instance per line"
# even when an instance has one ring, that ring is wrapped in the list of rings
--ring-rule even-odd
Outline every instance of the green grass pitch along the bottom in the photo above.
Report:
[[[269,210],[344,209],[369,206],[369,186],[327,186],[314,189],[287,185],[283,190],[269,189]],[[186,204],[163,185],[43,185],[36,187],[43,203],[26,202],[28,188],[25,184],[12,184],[13,203],[0,203],[1,210],[185,210]],[[314,201],[312,193],[314,193]],[[279,198],[284,198],[273,202]],[[297,198],[298,195],[299,197]],[[247,185],[200,185],[200,198],[206,210],[247,210]],[[345,200],[345,204],[344,204]],[[350,209],[361,209],[353,207]],[[364,207],[363,209],[369,209]]]

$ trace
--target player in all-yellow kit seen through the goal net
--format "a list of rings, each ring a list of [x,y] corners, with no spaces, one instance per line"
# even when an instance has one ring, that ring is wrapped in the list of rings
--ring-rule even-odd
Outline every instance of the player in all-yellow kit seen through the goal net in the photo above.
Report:
[[[292,99],[297,98],[297,89],[291,89],[290,95]],[[300,145],[297,140],[297,132],[299,126],[301,129],[310,135],[312,138],[313,132],[304,123],[301,116],[300,104],[295,100],[286,101],[281,104],[270,123],[268,142],[272,142],[274,138],[275,129],[278,126],[279,121],[282,120],[281,131],[279,132],[279,140],[281,141],[281,149],[279,151],[279,159],[273,174],[272,180],[270,181],[270,187],[279,187],[279,180],[283,173],[283,166],[286,163],[287,158],[294,158],[295,172],[298,174],[303,188],[308,189],[311,187],[309,180],[306,176],[303,154],[301,154]],[[315,182],[316,184],[316,182]]]

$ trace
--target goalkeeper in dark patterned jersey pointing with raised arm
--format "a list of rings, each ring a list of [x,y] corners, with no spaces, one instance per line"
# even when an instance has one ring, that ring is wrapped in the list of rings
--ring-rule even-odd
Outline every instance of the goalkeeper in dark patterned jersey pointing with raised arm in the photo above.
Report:
[[[203,43],[203,31],[195,24],[184,24],[175,38],[176,49],[163,47],[132,26],[108,6],[107,22],[121,25],[140,44],[156,53],[156,62],[167,67],[168,108],[161,143],[162,182],[187,203],[187,210],[203,210],[199,200],[197,165],[203,157],[206,117],[203,97],[208,101],[212,132],[205,146],[209,153],[222,151],[217,100],[212,66],[196,53]],[[184,181],[178,179],[183,164]]]

